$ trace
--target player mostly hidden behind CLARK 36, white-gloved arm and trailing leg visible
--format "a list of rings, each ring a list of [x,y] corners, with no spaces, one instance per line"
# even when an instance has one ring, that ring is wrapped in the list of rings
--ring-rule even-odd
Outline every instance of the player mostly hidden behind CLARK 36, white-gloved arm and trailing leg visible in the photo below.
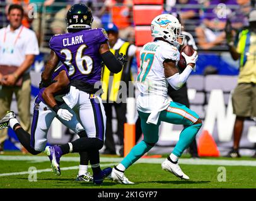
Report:
[[[47,144],[47,133],[54,117],[59,119],[67,128],[73,130],[74,133],[78,134],[79,138],[86,137],[83,126],[76,119],[76,114],[61,98],[69,91],[69,87],[66,86],[66,82],[69,82],[69,79],[65,65],[61,65],[55,69],[54,73],[52,73],[52,80],[54,80],[54,83],[49,85],[49,87],[40,87],[41,89],[35,98],[31,134],[27,133],[20,126],[20,122],[16,119],[15,112],[13,111],[8,112],[0,119],[0,129],[8,127],[13,129],[20,143],[32,155],[38,155],[44,151]],[[50,106],[55,104],[61,107],[57,114],[50,108]],[[90,182],[93,178],[90,172],[88,172],[88,154],[86,152],[79,154],[80,165],[76,181]]]

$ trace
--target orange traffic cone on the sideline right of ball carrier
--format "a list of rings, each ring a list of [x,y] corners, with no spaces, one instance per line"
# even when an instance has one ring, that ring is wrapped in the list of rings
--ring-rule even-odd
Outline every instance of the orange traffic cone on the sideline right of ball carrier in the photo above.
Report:
[[[212,136],[206,130],[202,131],[202,134],[199,137],[197,152],[199,156],[219,157],[218,147]]]

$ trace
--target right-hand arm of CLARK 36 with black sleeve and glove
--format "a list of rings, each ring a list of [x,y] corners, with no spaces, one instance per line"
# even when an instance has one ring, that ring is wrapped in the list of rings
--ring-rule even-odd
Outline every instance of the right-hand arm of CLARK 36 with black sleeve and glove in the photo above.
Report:
[[[122,55],[113,55],[110,52],[108,44],[102,43],[100,46],[100,56],[102,57],[103,62],[107,66],[108,70],[112,73],[119,73],[122,70],[122,67],[125,63],[125,57]]]

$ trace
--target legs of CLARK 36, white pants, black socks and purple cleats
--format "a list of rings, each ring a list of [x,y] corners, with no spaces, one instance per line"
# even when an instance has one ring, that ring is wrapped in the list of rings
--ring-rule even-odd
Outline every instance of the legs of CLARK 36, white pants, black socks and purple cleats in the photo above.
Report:
[[[103,147],[105,138],[106,116],[102,100],[85,92],[79,92],[79,118],[86,130],[88,138],[79,138],[61,146],[47,146],[45,149],[52,163],[52,168],[60,175],[59,160],[67,153],[79,153],[88,151],[91,168],[93,170],[93,182],[101,184],[112,168],[100,169],[100,156],[98,150]]]

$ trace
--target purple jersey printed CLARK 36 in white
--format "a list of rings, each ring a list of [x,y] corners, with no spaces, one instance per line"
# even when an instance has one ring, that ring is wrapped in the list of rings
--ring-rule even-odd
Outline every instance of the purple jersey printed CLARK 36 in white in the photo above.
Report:
[[[49,45],[69,68],[71,83],[79,80],[94,85],[101,80],[102,58],[99,49],[106,41],[106,31],[99,28],[52,36]]]

